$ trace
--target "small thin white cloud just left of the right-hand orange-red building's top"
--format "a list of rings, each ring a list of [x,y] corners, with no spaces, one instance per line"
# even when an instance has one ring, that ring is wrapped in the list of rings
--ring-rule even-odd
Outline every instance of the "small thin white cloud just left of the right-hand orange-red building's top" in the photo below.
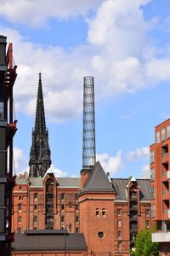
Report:
[[[149,147],[137,148],[127,153],[127,161],[132,161],[132,160],[142,159],[142,158],[149,158],[149,156],[150,156]]]

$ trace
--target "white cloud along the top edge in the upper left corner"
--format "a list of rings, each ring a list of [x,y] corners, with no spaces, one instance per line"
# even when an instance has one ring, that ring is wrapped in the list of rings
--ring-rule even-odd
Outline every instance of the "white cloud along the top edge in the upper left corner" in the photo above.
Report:
[[[10,22],[25,23],[30,26],[44,26],[49,18],[68,19],[77,15],[87,15],[97,8],[102,0],[1,0],[0,15]]]

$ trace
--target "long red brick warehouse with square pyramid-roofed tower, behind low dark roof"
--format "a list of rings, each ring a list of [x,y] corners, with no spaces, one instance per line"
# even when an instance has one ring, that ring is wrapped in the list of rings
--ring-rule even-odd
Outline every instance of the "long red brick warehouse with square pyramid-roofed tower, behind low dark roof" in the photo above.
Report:
[[[82,177],[54,177],[49,170],[44,177],[17,177],[14,231],[66,228],[83,233],[89,255],[129,255],[139,230],[150,228],[150,180],[110,178],[97,162],[81,187],[84,171]]]

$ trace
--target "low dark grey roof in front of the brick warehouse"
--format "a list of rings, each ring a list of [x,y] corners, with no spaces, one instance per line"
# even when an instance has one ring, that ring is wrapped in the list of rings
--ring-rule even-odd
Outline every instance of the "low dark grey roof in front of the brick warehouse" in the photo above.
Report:
[[[39,232],[38,232],[39,231]],[[37,232],[26,232],[24,234],[16,234],[15,241],[12,243],[15,251],[86,251],[87,245],[82,233],[67,233],[64,232],[44,232],[44,230],[37,230]]]

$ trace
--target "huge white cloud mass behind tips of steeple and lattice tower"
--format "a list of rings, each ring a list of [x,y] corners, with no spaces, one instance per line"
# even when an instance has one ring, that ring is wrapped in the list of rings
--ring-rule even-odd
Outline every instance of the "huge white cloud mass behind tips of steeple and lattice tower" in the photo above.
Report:
[[[85,15],[89,9],[96,8],[96,15],[87,20],[88,43],[69,50],[58,46],[43,48],[27,41],[14,29],[0,26],[1,33],[14,43],[14,60],[19,73],[14,99],[18,111],[35,113],[39,70],[42,71],[46,113],[54,122],[75,118],[82,112],[83,76],[95,77],[97,99],[132,93],[157,81],[170,79],[170,59],[156,59],[156,49],[150,48],[147,34],[150,23],[144,20],[140,8],[148,1],[46,2],[18,0],[14,4],[10,0],[3,1],[0,15],[14,22],[30,20],[35,26],[51,16],[70,18]]]

